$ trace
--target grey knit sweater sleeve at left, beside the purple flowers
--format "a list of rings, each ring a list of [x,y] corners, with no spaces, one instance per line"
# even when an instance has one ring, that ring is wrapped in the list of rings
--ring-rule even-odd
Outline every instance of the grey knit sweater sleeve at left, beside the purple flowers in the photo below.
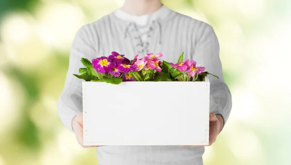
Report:
[[[82,112],[82,82],[73,74],[79,74],[79,68],[85,67],[81,58],[92,60],[95,49],[88,35],[87,25],[81,27],[76,33],[69,56],[69,66],[66,74],[63,91],[57,101],[58,115],[67,129],[72,129],[72,119]]]

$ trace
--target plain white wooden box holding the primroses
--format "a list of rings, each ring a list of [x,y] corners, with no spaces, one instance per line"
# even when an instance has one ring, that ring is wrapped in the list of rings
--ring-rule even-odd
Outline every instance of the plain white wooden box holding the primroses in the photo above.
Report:
[[[208,145],[210,82],[82,82],[83,143]]]

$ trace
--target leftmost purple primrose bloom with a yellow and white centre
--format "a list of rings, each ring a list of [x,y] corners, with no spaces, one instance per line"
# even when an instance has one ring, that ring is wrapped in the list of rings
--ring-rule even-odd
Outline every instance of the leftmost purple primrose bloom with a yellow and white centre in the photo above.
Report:
[[[107,57],[99,57],[97,59],[93,59],[92,64],[99,73],[110,72],[110,70],[112,70],[112,68],[116,66],[116,64],[112,62],[112,59]]]

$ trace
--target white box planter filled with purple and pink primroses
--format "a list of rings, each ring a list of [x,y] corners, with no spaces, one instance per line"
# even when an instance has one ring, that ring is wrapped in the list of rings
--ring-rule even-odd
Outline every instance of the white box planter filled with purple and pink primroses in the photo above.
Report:
[[[84,145],[208,145],[215,75],[183,53],[176,64],[137,57],[81,59]]]

